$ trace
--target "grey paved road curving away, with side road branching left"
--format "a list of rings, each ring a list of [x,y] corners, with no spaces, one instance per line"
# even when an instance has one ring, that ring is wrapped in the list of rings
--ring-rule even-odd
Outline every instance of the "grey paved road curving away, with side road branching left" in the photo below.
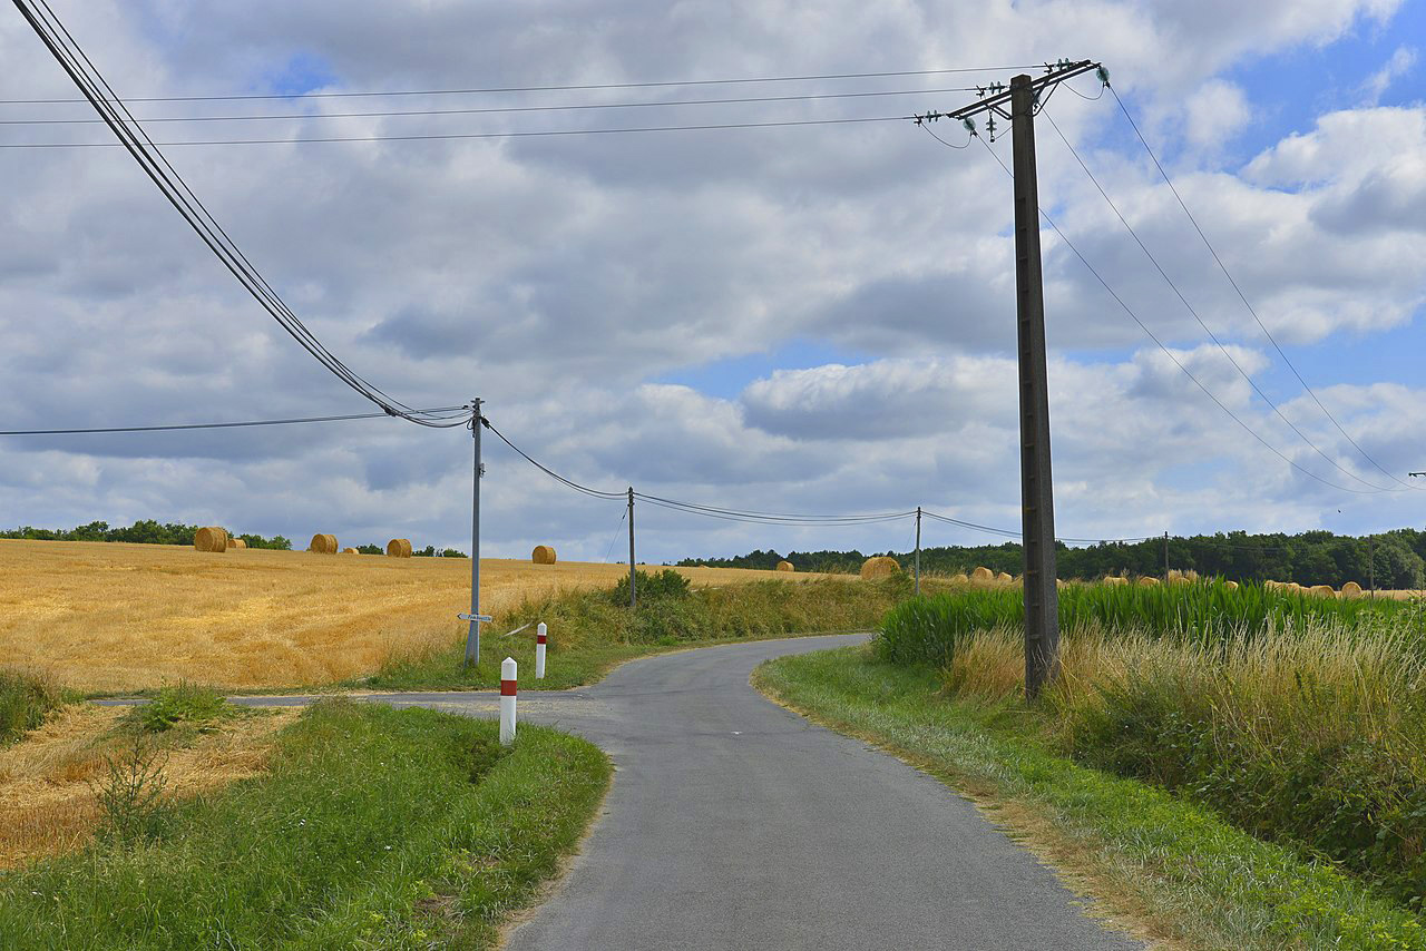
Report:
[[[769,657],[858,640],[662,654],[522,694],[522,720],[588,737],[617,771],[582,854],[506,947],[1141,948],[944,784],[747,683]],[[492,694],[372,699],[496,711]]]

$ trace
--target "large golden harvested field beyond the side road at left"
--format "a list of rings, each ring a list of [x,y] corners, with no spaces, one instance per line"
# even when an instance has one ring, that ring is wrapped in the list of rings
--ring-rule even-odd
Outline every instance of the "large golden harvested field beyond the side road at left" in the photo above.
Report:
[[[697,586],[814,577],[676,569]],[[625,565],[481,559],[481,609],[610,586]],[[317,684],[445,646],[468,559],[0,539],[0,663],[87,692]]]

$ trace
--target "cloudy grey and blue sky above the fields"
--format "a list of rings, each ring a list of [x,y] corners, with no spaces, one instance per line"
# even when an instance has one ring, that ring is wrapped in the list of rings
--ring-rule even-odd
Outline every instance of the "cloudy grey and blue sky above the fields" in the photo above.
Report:
[[[125,98],[287,97],[135,104],[141,118],[287,117],[151,123],[160,143],[897,117],[1034,64],[1102,61],[1242,298],[1115,96],[1092,74],[1068,81],[1035,128],[1041,207],[1062,231],[1041,232],[1058,533],[1426,523],[1426,479],[1406,475],[1426,469],[1422,3],[51,6]],[[0,61],[0,98],[76,96],[13,9]],[[289,98],[947,68],[984,71]],[[666,104],[830,93],[894,94]],[[662,104],[332,115],[610,103]],[[93,113],[0,103],[0,144],[111,141],[34,124],[60,118]],[[987,154],[1010,163],[1008,128],[994,144],[931,128],[945,144],[878,121],[165,154],[349,366],[408,405],[483,399],[570,479],[770,512],[921,505],[1015,529],[1012,194]],[[371,408],[123,150],[0,148],[0,429]],[[471,452],[465,429],[396,419],[0,436],[0,526],[155,518],[469,550]],[[626,557],[620,502],[489,435],[485,462],[482,555]],[[908,520],[786,528],[650,506],[636,526],[647,562],[913,539]],[[1000,539],[927,523],[923,540]]]

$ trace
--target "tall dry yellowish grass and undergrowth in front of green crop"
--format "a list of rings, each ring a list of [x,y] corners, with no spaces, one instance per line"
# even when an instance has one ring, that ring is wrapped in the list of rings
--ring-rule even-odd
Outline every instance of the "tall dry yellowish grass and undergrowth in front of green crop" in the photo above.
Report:
[[[1081,627],[1044,703],[1020,707],[1022,633],[967,639],[948,694],[1017,709],[1051,744],[1326,857],[1416,911],[1426,895],[1426,650],[1340,620],[1205,644]]]

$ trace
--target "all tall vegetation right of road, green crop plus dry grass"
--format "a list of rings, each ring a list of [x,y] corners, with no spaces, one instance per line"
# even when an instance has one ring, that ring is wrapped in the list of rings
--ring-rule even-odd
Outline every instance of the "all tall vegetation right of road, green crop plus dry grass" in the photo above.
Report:
[[[947,692],[1017,704],[1020,590],[900,605],[880,654]],[[1222,583],[1060,592],[1061,670],[1022,713],[1075,759],[1211,806],[1426,903],[1426,627],[1420,602]]]

